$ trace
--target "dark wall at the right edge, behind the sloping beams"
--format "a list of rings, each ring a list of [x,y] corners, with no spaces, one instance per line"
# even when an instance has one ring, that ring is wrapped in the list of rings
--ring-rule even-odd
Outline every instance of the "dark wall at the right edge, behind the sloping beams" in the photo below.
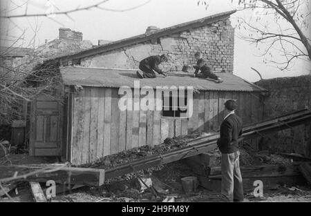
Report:
[[[270,91],[265,98],[264,119],[311,108],[311,75],[265,79],[256,83]],[[296,126],[265,138],[263,148],[311,156],[310,124]]]

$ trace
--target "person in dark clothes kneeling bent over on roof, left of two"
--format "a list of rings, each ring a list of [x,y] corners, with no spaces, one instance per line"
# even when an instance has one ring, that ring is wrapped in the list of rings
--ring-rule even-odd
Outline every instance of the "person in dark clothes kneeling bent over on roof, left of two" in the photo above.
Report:
[[[140,70],[137,71],[136,74],[140,79],[143,78],[156,78],[156,73],[153,70],[156,70],[158,74],[164,75],[164,72],[158,67],[160,63],[167,61],[166,55],[154,55],[151,57],[147,57],[146,59],[143,59],[140,61]],[[164,75],[166,77],[166,75]]]

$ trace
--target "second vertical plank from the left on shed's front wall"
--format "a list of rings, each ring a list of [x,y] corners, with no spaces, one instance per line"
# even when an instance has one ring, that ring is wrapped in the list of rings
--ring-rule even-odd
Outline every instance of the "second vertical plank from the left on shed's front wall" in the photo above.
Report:
[[[84,88],[84,123],[82,142],[82,164],[88,163],[88,148],[90,143],[90,123],[91,123],[91,88]]]

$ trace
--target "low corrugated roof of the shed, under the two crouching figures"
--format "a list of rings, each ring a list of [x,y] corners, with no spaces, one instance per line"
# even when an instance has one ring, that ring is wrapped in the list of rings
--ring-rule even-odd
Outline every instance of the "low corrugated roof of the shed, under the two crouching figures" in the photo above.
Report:
[[[167,77],[157,77],[154,79],[139,79],[136,75],[137,70],[127,69],[108,69],[108,68],[83,68],[83,67],[63,67],[60,68],[62,79],[65,85],[94,86],[106,88],[120,88],[129,86],[134,88],[134,81],[140,81],[142,86],[193,86],[197,90],[216,90],[216,91],[265,91],[265,89],[249,83],[241,77],[227,72],[217,72],[223,79],[223,83],[216,84],[214,81],[192,77],[192,73],[178,72]]]

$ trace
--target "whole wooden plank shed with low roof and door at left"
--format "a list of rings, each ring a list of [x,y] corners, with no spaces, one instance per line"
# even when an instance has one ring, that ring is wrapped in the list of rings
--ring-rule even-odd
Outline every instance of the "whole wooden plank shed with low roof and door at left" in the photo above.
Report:
[[[64,103],[45,98],[34,101],[30,154],[59,155],[73,164],[85,164],[122,150],[158,145],[167,137],[196,131],[214,132],[223,120],[227,99],[238,101],[236,112],[244,124],[262,120],[265,90],[231,73],[218,72],[223,83],[216,84],[185,72],[156,79],[138,79],[135,71],[60,68],[66,96]],[[172,108],[120,110],[118,103],[124,96],[119,94],[122,86],[133,90],[134,103],[140,104],[146,97],[139,90],[134,91],[135,81],[140,81],[140,88],[149,86],[151,89],[192,86],[195,89],[191,95],[192,115],[187,116],[189,107],[186,111],[179,107],[175,111]],[[187,106],[190,105],[187,102]]]

